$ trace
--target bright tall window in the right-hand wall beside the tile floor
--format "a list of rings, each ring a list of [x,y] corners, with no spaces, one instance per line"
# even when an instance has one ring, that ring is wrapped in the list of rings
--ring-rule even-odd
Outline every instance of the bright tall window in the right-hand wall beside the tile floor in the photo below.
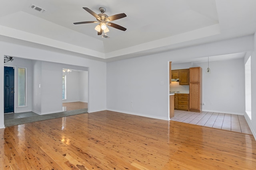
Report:
[[[251,92],[251,56],[245,64],[245,111],[252,119],[252,92]]]

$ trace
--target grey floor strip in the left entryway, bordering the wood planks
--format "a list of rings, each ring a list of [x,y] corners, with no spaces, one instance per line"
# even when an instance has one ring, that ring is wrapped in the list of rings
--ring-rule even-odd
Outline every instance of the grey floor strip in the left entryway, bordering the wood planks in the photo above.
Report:
[[[55,119],[59,117],[66,117],[66,116],[72,116],[72,115],[78,115],[82,113],[88,113],[88,109],[77,109],[77,110],[71,110],[71,111],[63,111],[60,113],[52,113],[47,115],[34,115],[30,117],[22,117],[18,119],[5,119],[4,120],[4,126],[10,127],[14,125],[21,125],[25,123],[31,123],[35,121],[43,121],[48,119]]]

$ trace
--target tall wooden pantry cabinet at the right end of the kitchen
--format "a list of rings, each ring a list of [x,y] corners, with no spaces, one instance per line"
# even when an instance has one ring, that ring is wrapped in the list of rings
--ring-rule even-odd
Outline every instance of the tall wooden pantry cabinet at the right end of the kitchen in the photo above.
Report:
[[[189,111],[202,111],[202,68],[189,68]]]

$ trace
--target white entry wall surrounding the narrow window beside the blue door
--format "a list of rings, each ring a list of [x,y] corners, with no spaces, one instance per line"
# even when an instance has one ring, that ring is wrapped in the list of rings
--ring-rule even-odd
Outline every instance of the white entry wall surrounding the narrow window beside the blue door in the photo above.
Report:
[[[13,66],[15,71],[14,78],[14,113],[26,112],[32,110],[32,79],[33,64],[31,60],[16,58],[12,62],[4,63],[4,66]],[[26,68],[26,106],[18,107],[18,68]]]

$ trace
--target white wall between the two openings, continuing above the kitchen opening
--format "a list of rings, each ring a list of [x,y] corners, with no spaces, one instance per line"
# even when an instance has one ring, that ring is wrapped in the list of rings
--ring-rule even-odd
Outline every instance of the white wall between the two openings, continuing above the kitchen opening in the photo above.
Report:
[[[254,48],[253,41],[253,36],[246,36],[107,63],[107,108],[167,120],[168,61],[251,51]],[[239,75],[243,77],[242,73]],[[163,81],[164,85],[160,85],[160,81]],[[215,93],[218,93],[218,90],[214,89]],[[215,99],[213,102],[216,106],[219,105]],[[238,107],[244,106],[241,105]],[[241,108],[238,112],[240,111]]]

